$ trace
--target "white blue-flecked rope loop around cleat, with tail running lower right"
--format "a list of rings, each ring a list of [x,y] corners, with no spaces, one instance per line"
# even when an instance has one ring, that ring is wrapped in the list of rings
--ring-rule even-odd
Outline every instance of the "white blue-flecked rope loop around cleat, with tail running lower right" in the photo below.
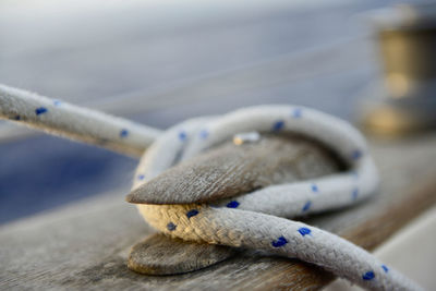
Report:
[[[132,193],[141,192],[147,181],[180,161],[234,136],[255,143],[253,135],[241,135],[251,132],[308,137],[334,150],[349,170],[311,181],[269,185],[220,201],[175,193],[182,204],[174,204],[166,195],[147,196],[134,202],[141,203],[141,215],[150,226],[174,238],[298,257],[371,289],[415,288],[395,270],[386,271],[385,265],[359,246],[282,218],[344,207],[370,196],[378,186],[378,174],[363,136],[349,123],[326,113],[304,107],[258,106],[185,121],[161,134],[145,153]]]

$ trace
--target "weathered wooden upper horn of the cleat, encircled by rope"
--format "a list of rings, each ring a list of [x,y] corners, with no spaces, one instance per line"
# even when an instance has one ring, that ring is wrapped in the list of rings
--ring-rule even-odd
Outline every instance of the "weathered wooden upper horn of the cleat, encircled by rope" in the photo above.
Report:
[[[343,168],[332,151],[314,141],[265,134],[256,143],[228,142],[181,162],[132,191],[126,201],[134,204],[211,202]]]

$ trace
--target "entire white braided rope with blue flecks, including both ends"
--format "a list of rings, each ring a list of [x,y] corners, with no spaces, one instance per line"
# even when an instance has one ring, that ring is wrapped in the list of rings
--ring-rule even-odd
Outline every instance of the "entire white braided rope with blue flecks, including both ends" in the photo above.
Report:
[[[130,154],[137,154],[159,134],[144,125],[1,85],[0,118]],[[351,171],[268,186],[213,206],[138,205],[143,217],[172,237],[298,257],[365,288],[420,290],[361,247],[315,227],[280,218],[344,207],[377,189],[378,175],[364,138],[331,116],[303,107],[261,106],[183,122],[152,144],[138,165],[134,187],[172,167],[180,156],[187,159],[235,134],[253,131],[291,132],[317,140],[348,161]]]

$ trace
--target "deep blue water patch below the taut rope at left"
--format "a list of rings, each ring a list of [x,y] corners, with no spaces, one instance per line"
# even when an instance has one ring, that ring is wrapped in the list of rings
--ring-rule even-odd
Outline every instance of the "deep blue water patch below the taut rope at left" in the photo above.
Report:
[[[0,145],[0,223],[111,189],[129,191],[136,160],[40,135]]]

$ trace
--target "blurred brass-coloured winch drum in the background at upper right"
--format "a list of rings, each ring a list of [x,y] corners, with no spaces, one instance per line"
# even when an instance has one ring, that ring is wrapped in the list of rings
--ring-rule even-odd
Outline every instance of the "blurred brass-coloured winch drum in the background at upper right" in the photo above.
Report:
[[[365,100],[363,125],[382,134],[436,128],[436,4],[401,4],[374,17],[384,69],[380,98]]]

